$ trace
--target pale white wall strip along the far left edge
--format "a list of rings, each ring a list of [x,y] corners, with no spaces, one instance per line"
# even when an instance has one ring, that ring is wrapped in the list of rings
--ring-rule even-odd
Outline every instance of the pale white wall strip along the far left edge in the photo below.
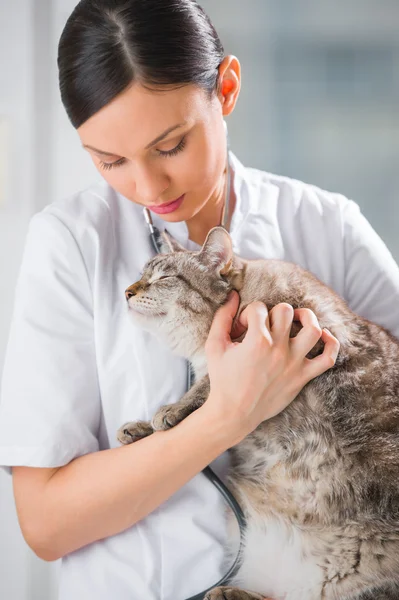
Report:
[[[30,2],[0,3],[0,117],[9,131],[6,193],[0,206],[0,365],[12,311],[17,268],[32,210],[33,27]],[[18,32],[18,34],[17,34]],[[33,554],[33,553],[30,553]],[[29,598],[30,554],[20,533],[11,478],[0,473],[0,597]]]

